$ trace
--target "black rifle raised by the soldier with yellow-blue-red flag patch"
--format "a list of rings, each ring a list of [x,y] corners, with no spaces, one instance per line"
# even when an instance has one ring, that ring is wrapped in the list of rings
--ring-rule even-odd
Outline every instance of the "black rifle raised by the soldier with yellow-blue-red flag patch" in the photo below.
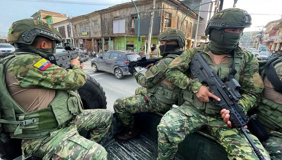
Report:
[[[70,43],[65,43],[64,48],[66,49],[65,51],[47,55],[47,59],[52,64],[62,68],[70,68],[71,59],[75,59],[77,56],[79,56],[80,63],[86,62],[89,59],[88,55],[84,55],[82,51],[75,49]]]

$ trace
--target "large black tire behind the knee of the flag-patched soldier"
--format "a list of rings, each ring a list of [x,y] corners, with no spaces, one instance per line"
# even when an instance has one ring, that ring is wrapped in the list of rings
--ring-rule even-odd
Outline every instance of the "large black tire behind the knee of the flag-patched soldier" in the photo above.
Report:
[[[89,75],[86,83],[78,89],[78,93],[82,99],[83,109],[106,109],[106,94],[103,87]]]

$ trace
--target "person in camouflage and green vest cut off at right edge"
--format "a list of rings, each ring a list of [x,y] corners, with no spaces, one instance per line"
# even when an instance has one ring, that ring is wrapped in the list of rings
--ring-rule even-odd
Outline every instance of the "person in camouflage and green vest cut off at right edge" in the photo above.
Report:
[[[276,73],[276,74],[275,74]],[[272,160],[282,160],[282,54],[274,55],[261,73],[264,91],[256,111],[268,138],[263,142]],[[223,116],[226,116],[223,115]],[[228,123],[228,118],[225,119]]]

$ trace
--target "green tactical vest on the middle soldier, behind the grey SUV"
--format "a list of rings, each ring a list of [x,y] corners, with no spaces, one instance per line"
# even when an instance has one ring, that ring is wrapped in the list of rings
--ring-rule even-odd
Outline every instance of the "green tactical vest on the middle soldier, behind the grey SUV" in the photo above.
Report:
[[[179,55],[176,54],[169,54],[166,58],[173,58],[175,59]],[[158,64],[159,62],[157,62]],[[179,97],[181,95],[181,89],[178,88],[176,85],[168,86],[164,84],[162,81],[165,80],[166,77],[163,75],[163,78],[157,83],[157,85],[147,88],[147,92],[154,94],[156,99],[160,102],[166,104],[178,104]],[[172,83],[173,84],[173,83]]]

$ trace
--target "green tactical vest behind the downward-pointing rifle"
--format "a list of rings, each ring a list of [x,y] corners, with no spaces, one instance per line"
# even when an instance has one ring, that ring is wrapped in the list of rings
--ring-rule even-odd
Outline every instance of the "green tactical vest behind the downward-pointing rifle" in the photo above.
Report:
[[[203,57],[208,60],[209,57],[207,54],[202,54]],[[234,78],[235,80],[239,81],[240,79],[240,74],[241,74],[241,64],[243,61],[243,57],[244,54],[242,53],[235,53],[234,55],[234,63],[235,63],[235,69],[237,71],[237,73],[235,74]],[[210,64],[212,70],[215,73],[218,73],[219,78],[223,79],[223,78],[228,78],[229,72],[230,72],[230,66],[231,64],[211,64],[208,62],[208,64]],[[191,71],[189,71],[187,73],[187,76],[189,78],[194,79],[194,77],[192,76]],[[220,107],[218,106],[213,106],[211,104],[211,102],[201,102],[193,92],[187,91],[187,90],[182,90],[182,95],[183,95],[183,99],[186,102],[189,102],[191,106],[194,106],[196,109],[198,110],[203,110],[208,114],[218,114],[221,110]]]

